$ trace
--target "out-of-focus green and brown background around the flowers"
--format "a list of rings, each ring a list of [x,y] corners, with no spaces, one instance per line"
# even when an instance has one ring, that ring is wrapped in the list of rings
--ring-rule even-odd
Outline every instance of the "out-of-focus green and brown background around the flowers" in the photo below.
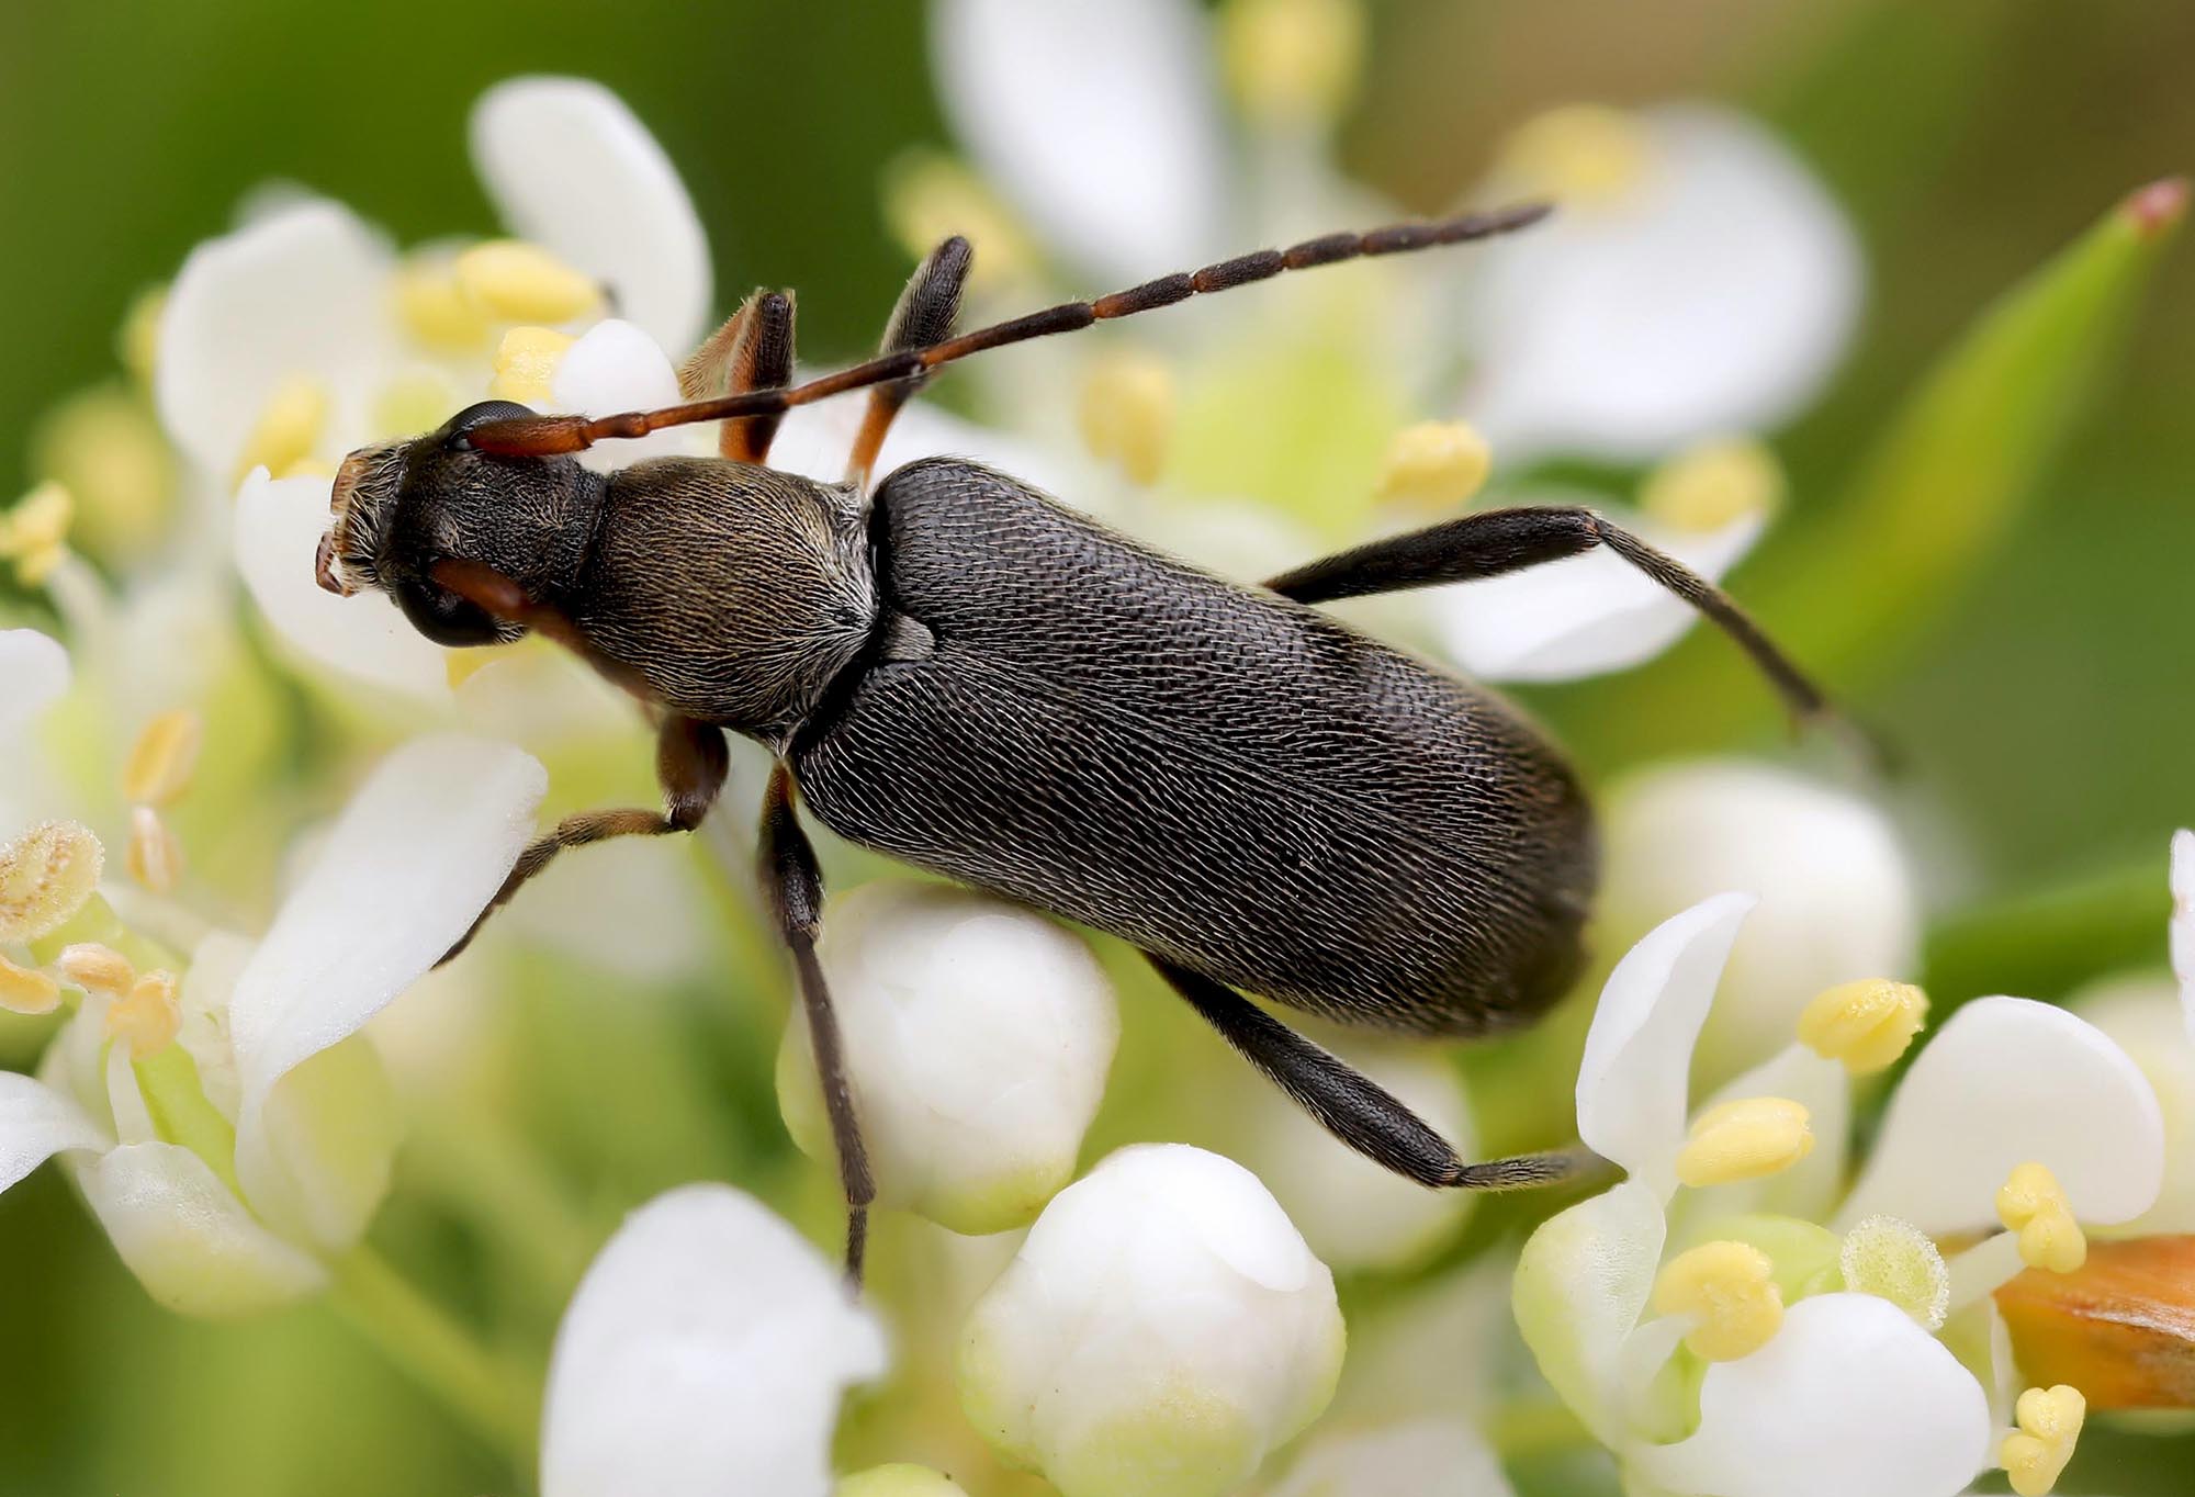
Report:
[[[1778,443],[1798,507],[1835,494],[1989,299],[2125,189],[2195,167],[2191,4],[1385,0],[1372,15],[1346,154],[1414,209],[1464,189],[1504,127],[1572,99],[1719,97],[1791,136],[1855,217],[1872,272],[1855,356]],[[4,492],[29,483],[35,415],[112,371],[130,299],[255,184],[305,182],[399,239],[489,230],[463,123],[511,72],[619,90],[700,204],[720,294],[797,285],[810,356],[874,340],[907,270],[878,171],[911,143],[946,143],[915,4],[167,0],[15,4],[7,31]],[[2164,836],[2195,821],[2191,430],[2195,257],[2182,252],[2098,408],[2037,474],[2013,544],[1857,702],[1971,849],[1943,869],[1949,887],[1982,900],[2153,869],[2147,946],[2131,953],[2145,957],[2162,950]],[[1594,689],[1532,702],[1563,724]],[[1622,762],[1622,744],[1578,727],[1596,768]],[[766,1087],[751,1069],[718,1080]],[[775,1126],[766,1091],[738,1111]],[[494,1267],[437,1240],[432,1218],[389,1218],[384,1238],[494,1297],[468,1280]],[[327,1310],[248,1328],[171,1319],[55,1172],[0,1196],[0,1493],[507,1486]]]

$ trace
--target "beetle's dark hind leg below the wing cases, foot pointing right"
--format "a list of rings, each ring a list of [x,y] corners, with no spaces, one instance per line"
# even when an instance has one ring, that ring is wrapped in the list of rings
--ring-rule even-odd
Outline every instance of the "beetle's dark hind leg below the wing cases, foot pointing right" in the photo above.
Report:
[[[1343,1062],[1328,1049],[1280,1023],[1234,988],[1144,953],[1159,977],[1190,1001],[1245,1060],[1288,1093],[1310,1117],[1365,1159],[1420,1185],[1453,1190],[1526,1190],[1552,1185],[1591,1166],[1585,1150],[1521,1155],[1488,1163],[1464,1163],[1447,1139],[1433,1133],[1394,1093]]]

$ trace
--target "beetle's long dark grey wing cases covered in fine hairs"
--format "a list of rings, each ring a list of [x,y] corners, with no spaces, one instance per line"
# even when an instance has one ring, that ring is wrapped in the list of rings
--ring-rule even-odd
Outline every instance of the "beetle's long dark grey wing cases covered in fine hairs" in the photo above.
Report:
[[[876,505],[933,643],[799,733],[834,832],[1350,1023],[1482,1034],[1567,986],[1591,819],[1501,702],[970,463]]]

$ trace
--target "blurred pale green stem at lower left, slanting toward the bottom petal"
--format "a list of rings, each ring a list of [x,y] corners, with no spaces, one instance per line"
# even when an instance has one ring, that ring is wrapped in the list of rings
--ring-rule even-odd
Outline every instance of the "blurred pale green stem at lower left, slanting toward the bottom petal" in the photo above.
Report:
[[[533,1468],[536,1389],[373,1249],[334,1264],[329,1304],[518,1471]]]

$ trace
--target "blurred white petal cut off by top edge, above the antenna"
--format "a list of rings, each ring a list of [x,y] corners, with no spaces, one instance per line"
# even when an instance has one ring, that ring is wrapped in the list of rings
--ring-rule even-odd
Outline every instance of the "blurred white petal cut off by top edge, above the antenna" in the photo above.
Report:
[[[942,0],[937,94],[1051,248],[1115,283],[1220,250],[1227,143],[1203,15],[1185,0]]]

